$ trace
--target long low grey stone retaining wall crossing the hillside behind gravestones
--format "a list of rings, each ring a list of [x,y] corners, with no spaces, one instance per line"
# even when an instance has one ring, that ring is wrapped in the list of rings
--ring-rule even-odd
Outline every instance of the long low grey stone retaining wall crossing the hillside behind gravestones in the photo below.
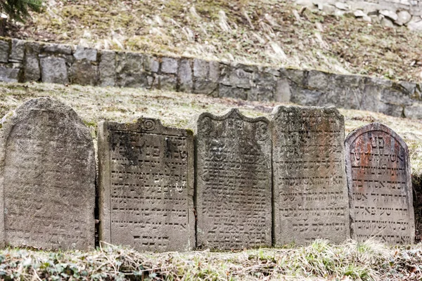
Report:
[[[0,39],[0,81],[162,89],[422,119],[422,85],[413,82],[18,39]]]

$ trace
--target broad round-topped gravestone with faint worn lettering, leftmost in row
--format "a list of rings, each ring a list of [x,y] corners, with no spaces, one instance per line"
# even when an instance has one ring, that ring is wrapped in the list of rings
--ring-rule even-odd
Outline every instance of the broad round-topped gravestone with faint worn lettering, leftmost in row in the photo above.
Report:
[[[2,244],[93,249],[94,143],[76,112],[36,98],[0,128]]]

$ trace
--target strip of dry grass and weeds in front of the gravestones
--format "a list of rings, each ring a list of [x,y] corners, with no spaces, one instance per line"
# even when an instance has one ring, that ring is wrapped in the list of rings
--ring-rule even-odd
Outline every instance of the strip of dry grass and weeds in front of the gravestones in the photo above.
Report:
[[[162,254],[102,244],[96,251],[0,251],[2,280],[419,280],[422,248],[369,240],[341,245]]]

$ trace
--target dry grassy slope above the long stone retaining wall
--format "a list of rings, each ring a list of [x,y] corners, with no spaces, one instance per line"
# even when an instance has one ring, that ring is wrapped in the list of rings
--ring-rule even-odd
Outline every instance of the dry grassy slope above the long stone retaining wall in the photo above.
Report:
[[[46,0],[9,36],[421,81],[422,33],[277,0]]]

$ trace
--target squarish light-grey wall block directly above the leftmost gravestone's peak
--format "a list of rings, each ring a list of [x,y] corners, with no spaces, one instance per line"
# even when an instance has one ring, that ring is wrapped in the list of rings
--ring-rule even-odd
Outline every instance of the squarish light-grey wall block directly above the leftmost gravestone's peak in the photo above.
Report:
[[[39,59],[41,65],[41,81],[44,83],[68,84],[68,67],[64,58],[53,56]]]

